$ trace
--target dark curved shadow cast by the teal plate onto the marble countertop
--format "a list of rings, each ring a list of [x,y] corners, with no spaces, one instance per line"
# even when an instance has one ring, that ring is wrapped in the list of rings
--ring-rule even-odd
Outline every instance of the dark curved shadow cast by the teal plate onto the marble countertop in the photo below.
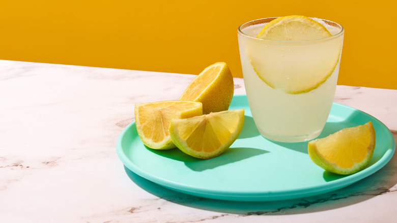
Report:
[[[234,202],[191,196],[162,187],[131,172],[128,177],[139,187],[156,197],[187,207],[241,215],[281,215],[317,212],[354,205],[393,192],[397,184],[397,155],[378,172],[350,186],[318,196],[272,202]],[[331,179],[331,178],[330,178]],[[393,189],[391,189],[393,188]]]

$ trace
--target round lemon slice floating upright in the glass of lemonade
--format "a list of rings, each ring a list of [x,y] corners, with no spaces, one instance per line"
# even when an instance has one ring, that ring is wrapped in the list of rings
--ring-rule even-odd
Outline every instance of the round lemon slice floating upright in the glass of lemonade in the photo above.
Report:
[[[257,36],[271,41],[252,41],[247,54],[253,70],[271,88],[287,94],[307,93],[322,85],[338,65],[343,39],[324,40],[331,36],[311,18],[279,17]]]

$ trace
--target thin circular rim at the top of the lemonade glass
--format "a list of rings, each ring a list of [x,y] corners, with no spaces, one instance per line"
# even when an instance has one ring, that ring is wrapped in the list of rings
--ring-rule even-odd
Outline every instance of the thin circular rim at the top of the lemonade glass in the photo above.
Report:
[[[330,37],[321,38],[321,39],[315,39],[315,40],[266,40],[266,39],[261,39],[261,38],[249,36],[249,35],[245,34],[242,31],[242,29],[247,27],[247,26],[256,25],[256,24],[262,24],[262,23],[265,23],[265,21],[268,21],[270,19],[274,20],[276,18],[279,18],[279,16],[278,17],[269,17],[269,18],[260,18],[260,19],[251,20],[251,21],[245,22],[245,23],[243,23],[242,25],[240,25],[238,27],[237,32],[238,32],[238,34],[242,35],[245,38],[249,38],[249,39],[257,40],[257,41],[268,42],[268,43],[308,43],[308,42],[316,42],[316,41],[325,41],[325,40],[328,40],[328,39],[337,38],[339,36],[342,36],[345,33],[345,29],[344,29],[344,27],[341,24],[333,22],[333,21],[330,21],[330,20],[327,20],[327,19],[321,19],[321,18],[317,18],[317,19],[321,19],[325,23],[327,23],[329,25],[332,25],[332,26],[337,25],[337,26],[339,26],[341,28],[341,31],[339,33],[335,34],[335,35],[330,36]]]

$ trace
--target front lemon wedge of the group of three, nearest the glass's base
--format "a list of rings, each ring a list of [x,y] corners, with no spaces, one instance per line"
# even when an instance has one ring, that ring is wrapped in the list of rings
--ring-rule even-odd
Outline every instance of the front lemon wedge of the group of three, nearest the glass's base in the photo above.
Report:
[[[189,119],[173,119],[169,134],[184,153],[216,157],[236,141],[244,125],[244,109],[219,111]]]

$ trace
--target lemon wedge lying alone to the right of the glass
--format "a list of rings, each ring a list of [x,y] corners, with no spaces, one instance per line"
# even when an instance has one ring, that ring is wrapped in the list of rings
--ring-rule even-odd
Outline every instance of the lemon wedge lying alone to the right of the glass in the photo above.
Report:
[[[308,143],[310,159],[326,171],[353,174],[364,168],[375,149],[372,122],[319,138]]]

